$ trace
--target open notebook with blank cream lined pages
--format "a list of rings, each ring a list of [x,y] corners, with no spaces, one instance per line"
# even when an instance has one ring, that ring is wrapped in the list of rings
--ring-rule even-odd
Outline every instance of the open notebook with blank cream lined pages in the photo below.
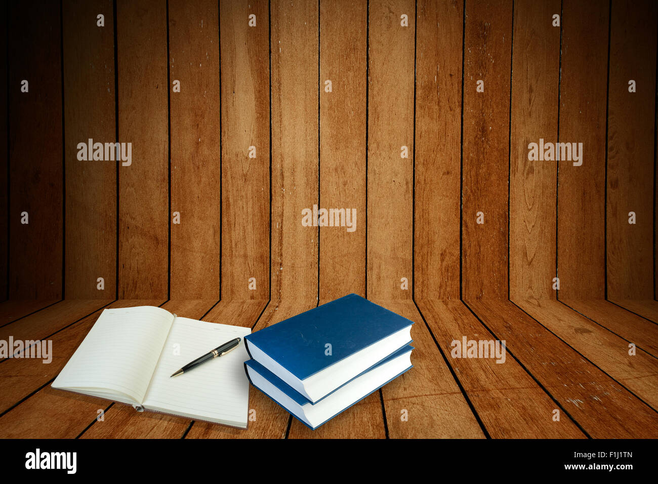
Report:
[[[247,427],[249,381],[241,343],[220,358],[171,378],[186,363],[251,330],[178,317],[154,306],[105,309],[53,382],[191,419]]]

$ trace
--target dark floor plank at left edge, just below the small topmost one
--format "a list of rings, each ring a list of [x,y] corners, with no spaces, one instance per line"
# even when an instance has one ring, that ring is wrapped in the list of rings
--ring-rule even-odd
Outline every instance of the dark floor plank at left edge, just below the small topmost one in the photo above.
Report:
[[[0,328],[0,339],[39,340],[110,304],[104,299],[66,299]],[[0,360],[1,361],[1,360]]]

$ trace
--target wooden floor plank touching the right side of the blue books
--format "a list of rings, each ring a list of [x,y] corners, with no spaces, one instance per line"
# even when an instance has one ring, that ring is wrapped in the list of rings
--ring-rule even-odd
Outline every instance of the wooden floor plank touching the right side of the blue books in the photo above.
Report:
[[[415,322],[411,329],[414,367],[382,388],[389,437],[484,438],[413,301],[373,302]]]

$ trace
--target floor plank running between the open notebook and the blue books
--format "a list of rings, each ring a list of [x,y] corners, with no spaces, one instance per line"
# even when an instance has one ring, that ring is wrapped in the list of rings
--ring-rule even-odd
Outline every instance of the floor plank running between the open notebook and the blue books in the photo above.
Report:
[[[306,304],[290,301],[283,304],[270,302],[253,331],[278,323],[315,306],[315,302]],[[255,420],[249,421],[247,431],[197,421],[192,425],[186,439],[283,439],[286,437],[288,421],[292,417],[253,386],[249,387],[249,411],[251,410],[254,410]]]

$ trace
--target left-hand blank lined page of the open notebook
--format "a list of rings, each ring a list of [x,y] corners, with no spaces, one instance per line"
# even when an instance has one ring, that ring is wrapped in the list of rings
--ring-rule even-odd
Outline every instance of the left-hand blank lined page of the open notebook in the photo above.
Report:
[[[173,320],[155,306],[105,309],[53,387],[109,390],[141,403]]]

